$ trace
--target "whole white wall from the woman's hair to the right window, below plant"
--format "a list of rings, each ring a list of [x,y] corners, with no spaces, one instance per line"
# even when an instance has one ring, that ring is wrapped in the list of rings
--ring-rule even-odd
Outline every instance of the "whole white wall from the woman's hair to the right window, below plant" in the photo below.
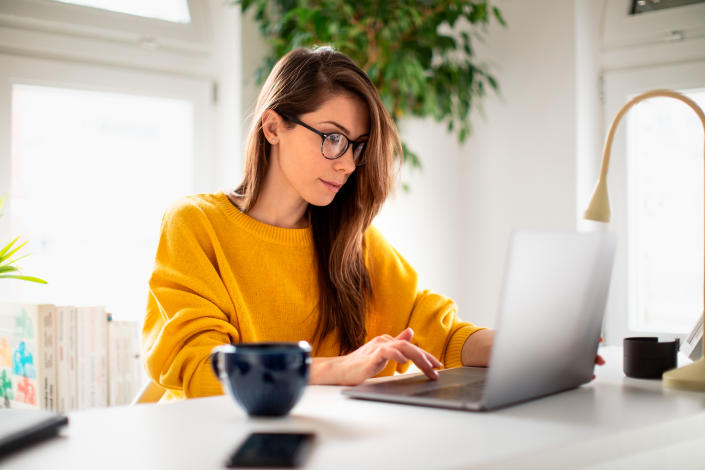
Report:
[[[573,2],[498,2],[508,27],[490,28],[478,48],[501,95],[464,147],[432,122],[404,129],[420,148],[423,174],[383,225],[463,319],[494,326],[512,230],[575,228],[575,26]],[[408,132],[407,132],[408,131]],[[416,213],[403,223],[404,215]],[[406,234],[394,223],[399,219]]]

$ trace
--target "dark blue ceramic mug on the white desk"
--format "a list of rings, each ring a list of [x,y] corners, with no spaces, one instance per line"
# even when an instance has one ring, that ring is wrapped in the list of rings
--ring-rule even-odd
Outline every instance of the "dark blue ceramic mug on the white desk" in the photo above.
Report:
[[[311,345],[224,344],[211,352],[211,366],[231,397],[251,416],[284,416],[308,383]]]

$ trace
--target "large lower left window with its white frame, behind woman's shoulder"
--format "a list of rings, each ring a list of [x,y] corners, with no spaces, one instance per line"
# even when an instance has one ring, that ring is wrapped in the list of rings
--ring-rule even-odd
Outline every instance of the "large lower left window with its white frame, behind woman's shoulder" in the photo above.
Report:
[[[164,211],[215,184],[210,81],[3,55],[0,73],[0,238],[29,240],[20,266],[49,281],[0,298],[141,321]]]

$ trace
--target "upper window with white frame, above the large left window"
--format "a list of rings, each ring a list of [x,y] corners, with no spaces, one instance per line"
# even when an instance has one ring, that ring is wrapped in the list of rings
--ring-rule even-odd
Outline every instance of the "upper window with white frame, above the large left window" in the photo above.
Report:
[[[28,50],[43,55],[61,50],[76,57],[94,55],[97,49],[102,51],[99,61],[123,63],[135,59],[121,48],[134,54],[142,47],[147,54],[169,54],[172,61],[174,52],[185,52],[181,59],[188,60],[211,52],[208,14],[209,2],[201,0],[2,0],[0,16],[10,28],[0,35],[0,45],[20,49],[23,55]],[[18,41],[23,47],[18,48]]]

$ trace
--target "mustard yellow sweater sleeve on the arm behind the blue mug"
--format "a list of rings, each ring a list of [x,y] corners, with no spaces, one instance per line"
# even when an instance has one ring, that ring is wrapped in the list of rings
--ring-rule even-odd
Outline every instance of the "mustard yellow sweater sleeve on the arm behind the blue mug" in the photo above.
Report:
[[[223,393],[209,356],[215,346],[239,338],[217,268],[217,243],[206,214],[190,199],[164,215],[142,348],[151,378],[186,397]]]

